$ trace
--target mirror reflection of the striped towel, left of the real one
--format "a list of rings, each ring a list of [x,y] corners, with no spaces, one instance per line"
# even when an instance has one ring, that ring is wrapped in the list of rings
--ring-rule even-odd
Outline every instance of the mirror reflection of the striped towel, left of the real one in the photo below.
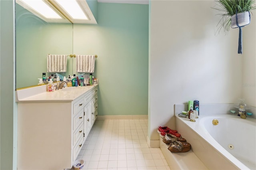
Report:
[[[67,55],[47,55],[47,72],[58,73],[67,71]]]

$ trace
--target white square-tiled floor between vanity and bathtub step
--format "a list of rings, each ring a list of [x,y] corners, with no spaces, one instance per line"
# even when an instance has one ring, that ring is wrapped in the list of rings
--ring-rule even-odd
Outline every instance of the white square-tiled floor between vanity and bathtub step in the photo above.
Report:
[[[170,170],[160,148],[149,148],[147,119],[99,120],[78,159],[88,170]]]

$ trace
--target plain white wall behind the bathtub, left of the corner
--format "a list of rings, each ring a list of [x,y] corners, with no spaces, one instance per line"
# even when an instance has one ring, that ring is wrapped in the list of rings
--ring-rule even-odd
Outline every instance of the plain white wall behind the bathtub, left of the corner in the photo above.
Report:
[[[158,140],[158,126],[175,128],[174,104],[237,101],[242,55],[238,29],[215,35],[220,16],[214,1],[150,3],[149,139]]]

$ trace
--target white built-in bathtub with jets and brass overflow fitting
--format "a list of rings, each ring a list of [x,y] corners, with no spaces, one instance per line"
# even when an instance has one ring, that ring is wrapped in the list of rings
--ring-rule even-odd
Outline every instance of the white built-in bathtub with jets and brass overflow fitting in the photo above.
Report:
[[[219,124],[213,125],[217,119]],[[176,128],[209,169],[256,169],[256,119],[200,115],[196,122],[176,115]]]

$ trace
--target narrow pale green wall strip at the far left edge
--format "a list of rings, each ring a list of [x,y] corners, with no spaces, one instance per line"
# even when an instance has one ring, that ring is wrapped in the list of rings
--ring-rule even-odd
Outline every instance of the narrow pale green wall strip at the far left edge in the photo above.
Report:
[[[13,168],[15,143],[13,121],[17,113],[14,113],[14,20],[11,0],[0,1],[0,34],[0,169],[10,170]]]

